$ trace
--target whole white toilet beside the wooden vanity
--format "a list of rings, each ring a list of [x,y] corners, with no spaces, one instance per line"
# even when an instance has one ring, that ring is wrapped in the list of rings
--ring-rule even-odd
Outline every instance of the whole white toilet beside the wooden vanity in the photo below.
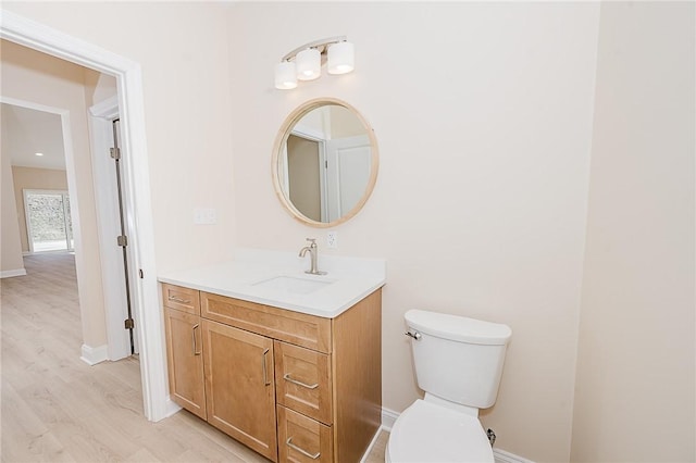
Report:
[[[397,418],[387,463],[493,462],[478,409],[496,401],[507,325],[411,310],[406,313],[418,385],[425,398]]]

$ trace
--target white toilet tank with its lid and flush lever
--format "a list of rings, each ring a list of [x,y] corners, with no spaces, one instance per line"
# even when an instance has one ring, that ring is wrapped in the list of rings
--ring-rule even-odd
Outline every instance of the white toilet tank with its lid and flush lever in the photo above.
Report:
[[[507,325],[444,313],[406,313],[418,385],[462,405],[487,409],[498,395],[512,330]]]

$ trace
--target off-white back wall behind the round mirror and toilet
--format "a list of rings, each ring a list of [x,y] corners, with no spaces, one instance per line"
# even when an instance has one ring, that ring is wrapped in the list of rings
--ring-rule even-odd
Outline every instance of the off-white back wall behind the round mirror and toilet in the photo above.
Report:
[[[409,309],[512,327],[498,403],[501,449],[564,461],[575,372],[598,5],[240,3],[232,9],[237,243],[299,250],[311,229],[271,184],[278,127],[301,102],[358,108],[380,143],[365,209],[338,227],[345,255],[388,262],[384,405],[420,393],[402,336]],[[321,18],[321,21],[318,21]],[[291,49],[335,35],[356,71],[273,89]]]

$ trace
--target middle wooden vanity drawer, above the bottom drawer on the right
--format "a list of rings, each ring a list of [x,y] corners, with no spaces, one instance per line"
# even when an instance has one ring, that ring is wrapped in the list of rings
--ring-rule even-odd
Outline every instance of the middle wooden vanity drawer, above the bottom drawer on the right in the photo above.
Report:
[[[274,349],[278,404],[331,425],[331,355],[279,341]]]

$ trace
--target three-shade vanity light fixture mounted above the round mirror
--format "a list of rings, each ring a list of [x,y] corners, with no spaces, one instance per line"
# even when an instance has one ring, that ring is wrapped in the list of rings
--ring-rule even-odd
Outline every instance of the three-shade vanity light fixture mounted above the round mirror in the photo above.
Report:
[[[275,66],[275,88],[288,90],[297,80],[314,80],[326,63],[328,74],[347,74],[355,68],[355,46],[346,36],[304,43],[287,53]]]

